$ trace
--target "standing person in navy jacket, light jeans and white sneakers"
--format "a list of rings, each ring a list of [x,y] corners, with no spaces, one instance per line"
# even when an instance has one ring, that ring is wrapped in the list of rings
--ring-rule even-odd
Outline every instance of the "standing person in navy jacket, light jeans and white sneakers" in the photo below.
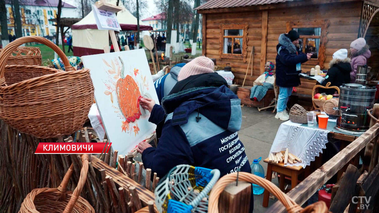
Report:
[[[301,52],[298,47],[299,38],[299,33],[291,30],[288,34],[280,34],[276,46],[276,85],[279,86],[279,96],[275,118],[281,121],[290,119],[286,111],[288,98],[292,94],[292,88],[300,85],[301,64],[312,56],[312,53],[305,55]]]

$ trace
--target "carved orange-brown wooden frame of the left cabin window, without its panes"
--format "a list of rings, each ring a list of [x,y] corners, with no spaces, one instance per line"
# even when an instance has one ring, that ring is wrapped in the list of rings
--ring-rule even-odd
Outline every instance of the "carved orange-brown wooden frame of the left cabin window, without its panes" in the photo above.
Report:
[[[247,62],[247,29],[249,28],[248,23],[231,23],[231,24],[220,24],[220,49],[219,49],[219,60],[222,61],[225,59],[243,59],[244,63]],[[243,30],[242,36],[224,36],[224,30]],[[232,53],[224,53],[224,38],[233,38],[233,42],[235,38],[242,38],[242,52],[241,54],[233,54],[233,45],[232,45]]]

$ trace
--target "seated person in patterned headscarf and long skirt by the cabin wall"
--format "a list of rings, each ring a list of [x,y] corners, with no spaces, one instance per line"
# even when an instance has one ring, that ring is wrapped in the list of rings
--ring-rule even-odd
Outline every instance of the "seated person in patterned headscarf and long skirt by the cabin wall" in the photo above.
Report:
[[[253,87],[251,88],[250,100],[252,101],[261,101],[265,97],[266,92],[269,89],[274,88],[274,68],[275,64],[271,61],[268,61],[265,65],[265,72],[260,75],[254,82]]]

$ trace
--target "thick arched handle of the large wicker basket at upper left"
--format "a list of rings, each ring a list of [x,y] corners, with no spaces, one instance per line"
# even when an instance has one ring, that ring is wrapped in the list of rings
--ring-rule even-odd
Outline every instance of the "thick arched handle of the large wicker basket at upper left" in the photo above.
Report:
[[[22,44],[28,43],[28,42],[38,42],[41,44],[44,44],[51,49],[54,50],[54,52],[58,53],[60,58],[63,61],[64,67],[66,71],[76,70],[74,67],[70,65],[69,60],[67,59],[67,56],[63,53],[63,51],[55,45],[53,42],[41,37],[41,36],[25,36],[18,38],[12,42],[10,42],[6,47],[0,52],[0,85],[3,85],[5,83],[4,79],[4,73],[5,73],[5,65],[6,61],[8,60],[9,56],[13,53],[14,50],[17,49]]]

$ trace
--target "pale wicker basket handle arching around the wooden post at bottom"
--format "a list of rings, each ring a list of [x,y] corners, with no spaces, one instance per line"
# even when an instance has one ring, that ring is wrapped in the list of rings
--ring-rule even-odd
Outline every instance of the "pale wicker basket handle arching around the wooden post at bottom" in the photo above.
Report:
[[[216,185],[213,186],[213,189],[209,195],[209,205],[208,205],[209,213],[219,212],[218,204],[219,204],[220,194],[229,183],[236,181],[237,175],[238,175],[238,180],[254,183],[256,185],[262,186],[263,188],[265,188],[265,190],[268,190],[271,194],[277,197],[280,200],[280,202],[282,202],[282,204],[285,206],[285,208],[287,209],[289,213],[297,213],[297,212],[327,213],[329,212],[324,201],[316,202],[303,209],[300,205],[296,204],[293,199],[291,199],[282,191],[280,191],[279,188],[274,183],[262,177],[258,177],[256,175],[253,175],[247,172],[239,172],[239,174],[237,174],[237,172],[234,172],[220,178],[218,182],[216,183]]]

